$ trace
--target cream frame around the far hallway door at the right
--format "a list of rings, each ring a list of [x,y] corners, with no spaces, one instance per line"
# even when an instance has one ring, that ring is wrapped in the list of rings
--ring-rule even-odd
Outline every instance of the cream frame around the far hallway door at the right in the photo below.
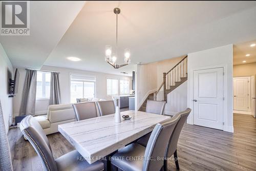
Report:
[[[253,75],[251,75],[253,76]],[[233,113],[240,113],[240,114],[251,114],[251,76],[233,76],[233,91],[234,91],[234,79],[236,78],[248,78],[248,111],[240,111],[240,110],[234,110],[234,94],[233,94]]]

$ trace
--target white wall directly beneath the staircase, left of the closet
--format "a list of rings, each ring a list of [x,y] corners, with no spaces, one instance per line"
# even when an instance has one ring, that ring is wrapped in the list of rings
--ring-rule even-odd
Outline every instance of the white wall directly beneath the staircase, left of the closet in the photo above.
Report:
[[[187,81],[183,82],[175,90],[167,94],[165,115],[176,115],[187,109]]]

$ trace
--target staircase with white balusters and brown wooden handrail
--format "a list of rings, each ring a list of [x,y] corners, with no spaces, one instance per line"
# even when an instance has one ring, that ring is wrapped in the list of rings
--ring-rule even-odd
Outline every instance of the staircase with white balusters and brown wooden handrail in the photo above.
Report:
[[[187,55],[179,61],[172,69],[167,73],[163,73],[163,82],[158,90],[146,98],[143,104],[140,106],[139,111],[146,111],[147,100],[166,101],[167,94],[179,87],[183,82],[187,80]]]

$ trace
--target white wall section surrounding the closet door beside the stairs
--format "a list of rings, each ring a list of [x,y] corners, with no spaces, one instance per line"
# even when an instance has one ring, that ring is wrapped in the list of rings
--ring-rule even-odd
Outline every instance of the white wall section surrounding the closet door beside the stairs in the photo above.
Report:
[[[187,105],[193,109],[193,71],[212,66],[224,66],[224,131],[233,132],[233,45],[188,54]],[[187,123],[193,124],[193,111]]]

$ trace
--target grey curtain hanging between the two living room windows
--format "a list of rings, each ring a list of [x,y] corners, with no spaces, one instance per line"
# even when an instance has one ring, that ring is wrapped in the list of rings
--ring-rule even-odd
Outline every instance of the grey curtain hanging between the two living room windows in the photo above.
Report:
[[[51,73],[51,88],[49,104],[60,104],[59,73]]]

